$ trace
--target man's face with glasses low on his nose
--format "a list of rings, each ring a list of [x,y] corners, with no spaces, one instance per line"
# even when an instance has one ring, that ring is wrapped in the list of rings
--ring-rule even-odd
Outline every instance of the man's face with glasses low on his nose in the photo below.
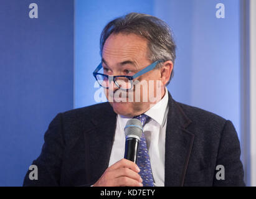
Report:
[[[152,62],[148,58],[148,41],[135,34],[111,34],[106,40],[102,51],[102,66],[106,75],[135,75],[143,68],[150,65]],[[146,83],[148,88],[143,89],[141,86],[140,91],[136,92],[136,86],[133,87],[133,100],[128,101],[128,92],[120,90],[118,86],[111,81],[109,88],[104,89],[105,95],[116,114],[123,116],[133,117],[139,114],[145,113],[153,104],[157,103],[159,99],[164,95],[164,85],[160,85],[162,82],[161,69],[151,70],[141,76],[138,76],[136,80]],[[144,81],[142,81],[144,80]],[[154,82],[153,86],[149,86],[149,80]],[[158,83],[156,83],[159,80]],[[146,88],[146,87],[145,87]],[[144,91],[143,91],[144,90]],[[146,91],[148,90],[148,92]],[[150,101],[149,94],[156,96],[157,90],[160,90],[157,101]],[[127,98],[124,100],[121,98],[121,94],[116,96],[115,94],[125,92]],[[112,94],[111,94],[112,93]],[[131,93],[130,93],[131,94]],[[135,96],[137,95],[137,100]],[[140,101],[138,101],[138,95],[140,95]],[[146,97],[146,101],[143,101]],[[111,98],[111,99],[110,99]]]

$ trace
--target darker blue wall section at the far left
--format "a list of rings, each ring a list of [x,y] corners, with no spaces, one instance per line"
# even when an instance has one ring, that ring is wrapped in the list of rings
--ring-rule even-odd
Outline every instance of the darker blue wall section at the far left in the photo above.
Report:
[[[0,24],[0,186],[21,186],[50,121],[73,108],[73,1],[1,1]]]

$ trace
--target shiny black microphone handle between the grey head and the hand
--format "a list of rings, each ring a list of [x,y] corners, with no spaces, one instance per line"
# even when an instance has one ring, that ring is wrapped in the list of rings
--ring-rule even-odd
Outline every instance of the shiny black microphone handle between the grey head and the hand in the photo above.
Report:
[[[128,137],[125,141],[125,159],[137,163],[140,141],[134,137]]]

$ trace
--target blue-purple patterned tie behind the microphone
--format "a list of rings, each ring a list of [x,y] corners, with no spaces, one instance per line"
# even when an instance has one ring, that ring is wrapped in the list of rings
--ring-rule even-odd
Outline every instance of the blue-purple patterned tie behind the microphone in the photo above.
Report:
[[[141,114],[140,116],[135,116],[135,119],[139,119],[141,121],[142,126],[144,126],[149,119],[149,116],[145,114]],[[148,149],[146,147],[146,139],[144,132],[141,136],[140,146],[138,150],[138,157],[137,157],[137,165],[140,167],[140,176],[143,179],[143,186],[144,187],[154,187],[153,175],[151,171],[151,164],[148,155]]]

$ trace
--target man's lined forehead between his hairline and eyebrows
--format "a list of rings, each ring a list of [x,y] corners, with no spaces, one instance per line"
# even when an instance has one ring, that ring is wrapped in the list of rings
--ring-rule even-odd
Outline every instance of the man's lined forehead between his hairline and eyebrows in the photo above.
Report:
[[[106,40],[102,58],[105,60],[146,59],[148,40],[135,34],[111,34]]]

